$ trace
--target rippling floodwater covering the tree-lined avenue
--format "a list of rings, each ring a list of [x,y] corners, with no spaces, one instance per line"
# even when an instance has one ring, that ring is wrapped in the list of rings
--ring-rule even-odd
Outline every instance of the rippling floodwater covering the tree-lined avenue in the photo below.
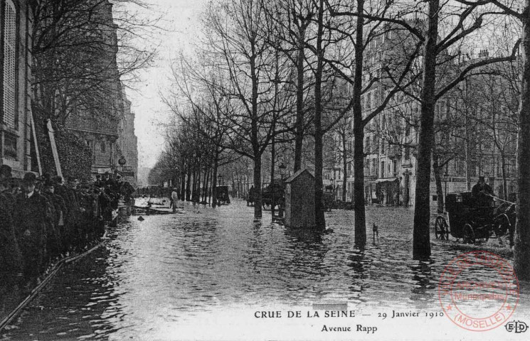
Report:
[[[197,319],[314,303],[440,310],[444,266],[470,251],[435,241],[431,261],[413,261],[413,211],[402,207],[367,207],[369,245],[359,251],[353,211],[327,213],[332,233],[302,234],[271,224],[270,212],[253,222],[253,207],[240,200],[183,205],[179,214],[132,216],[109,230],[100,249],[63,267],[0,337],[179,340],[193,337]],[[520,306],[529,306],[527,292]]]

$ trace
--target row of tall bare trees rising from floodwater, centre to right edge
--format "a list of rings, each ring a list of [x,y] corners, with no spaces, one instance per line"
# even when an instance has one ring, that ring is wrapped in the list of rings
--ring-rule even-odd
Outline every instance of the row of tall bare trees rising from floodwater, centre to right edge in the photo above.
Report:
[[[424,259],[430,256],[433,155],[436,167],[441,160],[436,148],[440,141],[433,139],[437,132],[436,104],[467,78],[484,73],[484,67],[516,60],[521,41],[517,26],[522,24],[516,269],[521,278],[528,278],[530,271],[521,261],[529,256],[530,226],[530,171],[523,165],[529,162],[530,153],[530,131],[524,131],[524,122],[530,115],[530,102],[526,103],[530,94],[525,93],[524,86],[525,77],[530,76],[526,71],[530,69],[526,65],[528,47],[524,40],[530,15],[528,4],[523,9],[517,11],[516,1],[494,0],[212,1],[204,13],[205,34],[197,44],[194,58],[182,56],[174,64],[174,87],[166,94],[166,103],[179,118],[180,127],[200,122],[196,124],[198,136],[208,137],[213,146],[214,169],[218,158],[230,153],[253,161],[258,195],[256,218],[262,215],[263,153],[271,148],[274,161],[275,144],[294,142],[293,171],[298,171],[303,162],[304,141],[310,141],[314,147],[319,229],[325,228],[324,136],[351,113],[355,242],[364,247],[366,127],[396,94],[406,94],[420,107],[413,256]],[[514,31],[504,38],[508,47],[497,49],[487,58],[460,63],[463,51],[486,48],[495,38],[494,28],[499,24]],[[385,50],[378,49],[385,41]],[[367,109],[362,102],[373,90],[377,90],[380,100]]]

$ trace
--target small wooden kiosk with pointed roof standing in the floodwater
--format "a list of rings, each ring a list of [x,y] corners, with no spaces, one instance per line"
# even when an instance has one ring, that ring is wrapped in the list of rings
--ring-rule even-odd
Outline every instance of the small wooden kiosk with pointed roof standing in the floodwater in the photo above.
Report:
[[[285,180],[285,227],[312,229],[314,226],[314,176],[304,169]]]

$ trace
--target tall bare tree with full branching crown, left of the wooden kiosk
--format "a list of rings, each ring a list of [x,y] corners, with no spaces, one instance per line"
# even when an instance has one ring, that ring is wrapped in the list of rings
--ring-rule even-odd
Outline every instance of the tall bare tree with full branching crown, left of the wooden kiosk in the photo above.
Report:
[[[285,105],[278,110],[275,84],[290,73],[286,68],[275,79],[274,50],[267,43],[265,11],[259,0],[223,0],[211,4],[204,20],[211,65],[227,75],[228,84],[220,90],[230,98],[230,148],[254,162],[255,218],[262,217],[261,168],[262,156],[275,134],[272,121],[281,121],[289,114]],[[282,102],[289,101],[285,94]],[[280,114],[277,114],[277,113]]]

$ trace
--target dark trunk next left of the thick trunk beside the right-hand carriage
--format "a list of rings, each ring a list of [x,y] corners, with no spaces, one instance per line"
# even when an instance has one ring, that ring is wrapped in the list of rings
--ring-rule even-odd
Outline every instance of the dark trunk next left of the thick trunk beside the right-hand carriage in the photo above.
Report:
[[[357,0],[357,11],[363,13],[364,0]],[[355,43],[354,75],[354,210],[355,210],[355,246],[364,249],[366,246],[366,207],[364,206],[364,126],[361,91],[363,87],[363,49],[364,17],[357,17]]]

